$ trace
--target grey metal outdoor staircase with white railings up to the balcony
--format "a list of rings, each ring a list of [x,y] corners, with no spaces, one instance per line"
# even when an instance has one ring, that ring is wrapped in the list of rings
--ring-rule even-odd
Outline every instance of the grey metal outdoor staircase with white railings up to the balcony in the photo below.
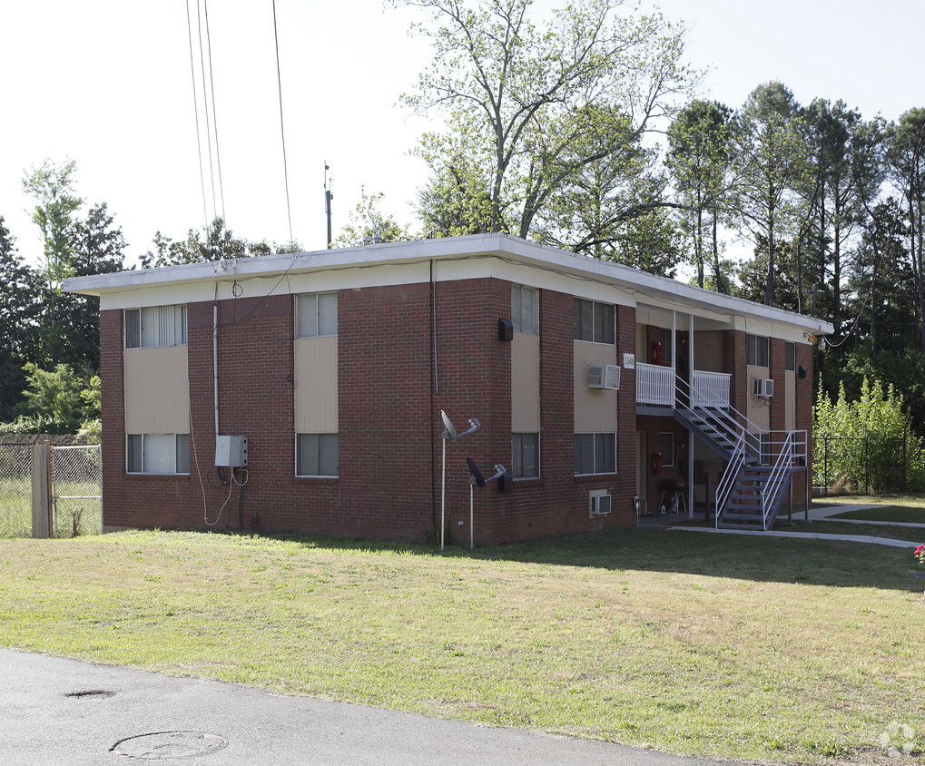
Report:
[[[674,416],[727,463],[716,490],[717,528],[771,529],[794,473],[806,470],[806,431],[763,431],[728,402],[692,392],[681,377]]]

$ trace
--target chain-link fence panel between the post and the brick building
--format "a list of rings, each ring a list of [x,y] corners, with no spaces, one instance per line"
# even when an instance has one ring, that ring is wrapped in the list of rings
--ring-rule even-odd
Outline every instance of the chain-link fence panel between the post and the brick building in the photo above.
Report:
[[[103,532],[103,462],[100,446],[52,447],[55,537]]]

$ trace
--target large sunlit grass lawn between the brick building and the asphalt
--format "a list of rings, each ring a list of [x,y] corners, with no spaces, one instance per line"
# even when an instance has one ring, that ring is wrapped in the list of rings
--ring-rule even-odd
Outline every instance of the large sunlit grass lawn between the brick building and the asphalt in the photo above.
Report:
[[[887,724],[925,734],[917,574],[908,550],[660,529],[474,554],[8,539],[0,644],[679,754],[896,763]]]

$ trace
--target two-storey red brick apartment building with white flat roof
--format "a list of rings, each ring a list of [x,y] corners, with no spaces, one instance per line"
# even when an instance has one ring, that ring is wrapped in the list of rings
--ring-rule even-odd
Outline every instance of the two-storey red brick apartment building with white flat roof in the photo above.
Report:
[[[106,528],[414,539],[443,518],[493,544],[662,508],[754,523],[762,490],[767,525],[807,497],[832,332],[808,316],[506,235],[65,288],[100,298]],[[445,502],[441,410],[480,424],[446,445]],[[466,458],[514,476],[475,489],[472,530]]]

